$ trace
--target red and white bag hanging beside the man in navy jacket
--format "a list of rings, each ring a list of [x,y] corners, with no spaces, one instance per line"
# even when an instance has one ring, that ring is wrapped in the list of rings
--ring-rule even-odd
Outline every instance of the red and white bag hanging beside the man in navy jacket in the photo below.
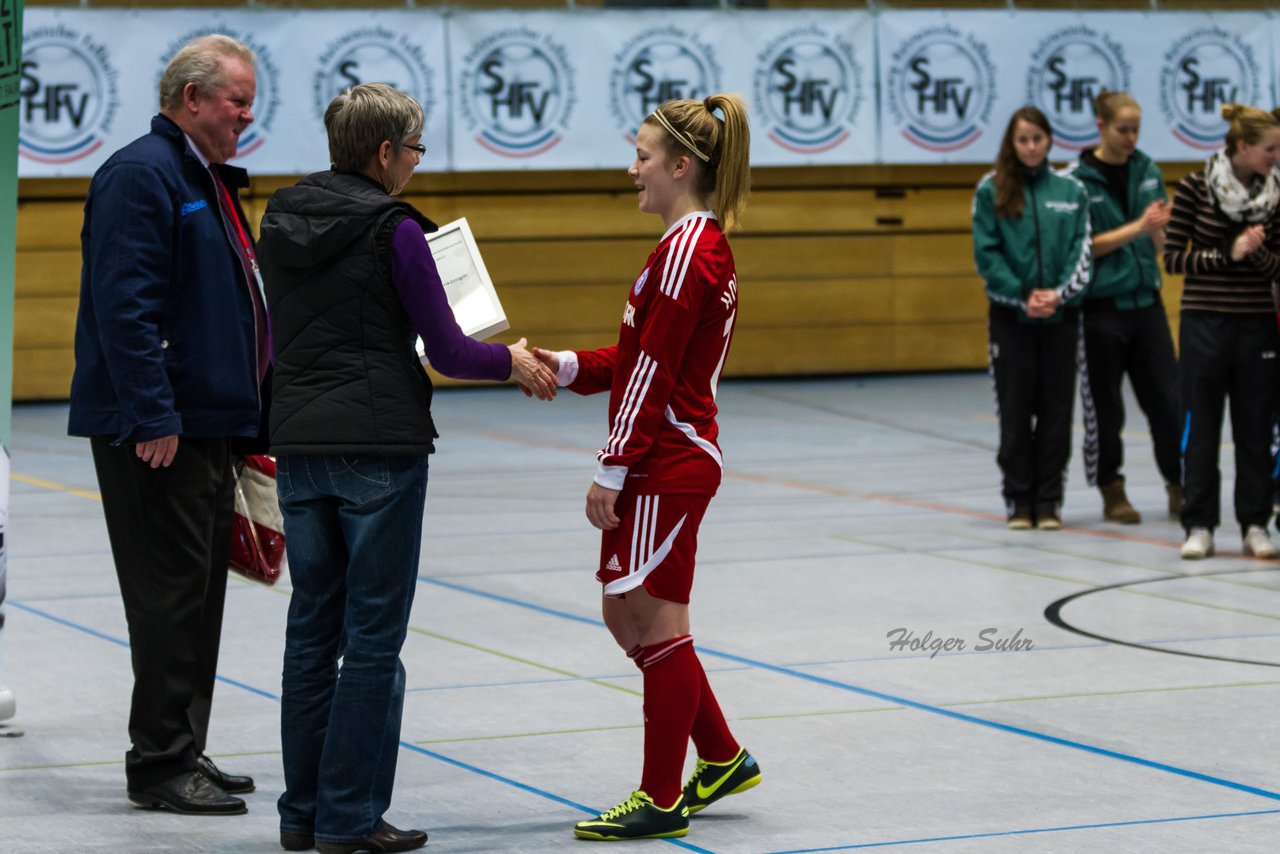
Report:
[[[236,517],[230,568],[262,584],[275,584],[284,568],[284,519],[275,494],[275,460],[250,455],[232,466]]]

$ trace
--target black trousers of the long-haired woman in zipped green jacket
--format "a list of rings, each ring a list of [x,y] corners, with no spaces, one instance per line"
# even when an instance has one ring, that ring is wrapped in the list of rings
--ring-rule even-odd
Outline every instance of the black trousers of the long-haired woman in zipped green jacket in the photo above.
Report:
[[[1000,452],[1005,503],[1042,507],[1062,503],[1071,457],[1071,406],[1079,311],[1061,323],[1019,323],[1012,309],[988,312],[991,373],[1000,414]]]

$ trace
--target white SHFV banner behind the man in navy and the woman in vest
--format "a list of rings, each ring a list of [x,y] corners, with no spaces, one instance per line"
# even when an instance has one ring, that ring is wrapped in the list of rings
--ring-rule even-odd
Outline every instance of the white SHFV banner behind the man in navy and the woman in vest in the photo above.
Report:
[[[353,82],[384,81],[422,104],[433,165],[448,168],[438,13],[37,8],[24,26],[19,174],[92,174],[150,129],[174,52],[215,32],[257,54],[255,119],[237,165],[259,174],[326,168],[324,108]]]

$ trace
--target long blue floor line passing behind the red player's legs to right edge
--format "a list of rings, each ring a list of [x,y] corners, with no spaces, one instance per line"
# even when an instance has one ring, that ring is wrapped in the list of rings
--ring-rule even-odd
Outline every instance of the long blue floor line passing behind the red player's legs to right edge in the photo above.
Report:
[[[602,620],[593,620],[589,617],[582,617],[576,613],[568,613],[567,611],[558,611],[556,608],[548,608],[539,604],[532,604],[530,602],[522,602],[520,599],[513,599],[511,597],[499,595],[495,593],[488,593],[485,590],[476,590],[474,588],[467,588],[461,584],[438,581],[436,579],[430,579],[420,575],[420,580],[428,584],[435,584],[451,590],[457,590],[460,593],[468,593],[471,595],[477,595],[485,599],[493,599],[495,602],[502,602],[506,604],[512,604],[518,608],[526,608],[529,611],[535,611],[538,613],[545,613],[554,617],[563,617],[567,620],[573,620],[576,622],[585,622],[594,626],[604,626]],[[1179,768],[1164,762],[1156,762],[1153,759],[1144,759],[1129,753],[1120,753],[1119,750],[1108,750],[1107,748],[1097,748],[1091,744],[1084,744],[1083,741],[1073,741],[1070,739],[1061,739],[1056,735],[1048,735],[1046,732],[1037,732],[1034,730],[1027,730],[1020,726],[1011,726],[1009,723],[1000,723],[998,721],[988,721],[973,714],[965,714],[964,712],[955,712],[952,709],[942,708],[938,705],[929,705],[928,703],[919,703],[916,700],[909,700],[905,697],[896,697],[893,694],[886,694],[883,691],[877,691],[869,688],[861,688],[859,685],[852,685],[850,682],[841,682],[835,679],[826,679],[823,676],[814,676],[813,673],[805,673],[803,671],[794,670],[791,667],[781,667],[778,665],[771,665],[768,662],[758,661],[755,658],[748,658],[745,656],[735,656],[733,653],[721,652],[718,649],[710,649],[708,647],[698,645],[698,650],[707,656],[713,656],[716,658],[722,658],[724,661],[731,661],[739,665],[746,665],[749,667],[758,667],[760,670],[767,670],[774,673],[781,673],[782,676],[791,676],[792,679],[801,679],[808,682],[814,682],[817,685],[824,685],[827,688],[836,688],[842,691],[850,691],[852,694],[861,694],[863,697],[870,697],[873,699],[883,700],[886,703],[893,703],[896,705],[902,705],[905,708],[915,709],[918,712],[928,712],[929,714],[938,714],[941,717],[947,717],[954,721],[963,721],[964,723],[974,723],[977,726],[984,726],[997,732],[1007,732],[1010,735],[1020,735],[1028,739],[1036,739],[1037,741],[1044,741],[1047,744],[1056,744],[1062,748],[1071,748],[1073,750],[1082,750],[1084,753],[1092,753],[1093,755],[1106,757],[1108,759],[1119,759],[1121,762],[1128,762],[1132,764],[1142,766],[1144,768],[1152,768],[1155,771],[1164,771],[1165,773],[1176,775],[1179,777],[1187,777],[1189,780],[1198,780],[1201,782],[1208,782],[1215,786],[1222,786],[1224,789],[1234,789],[1235,791],[1243,791],[1251,795],[1258,795],[1260,798],[1268,798],[1271,800],[1280,800],[1280,793],[1270,791],[1267,789],[1260,789],[1257,786],[1249,786],[1242,782],[1235,782],[1231,780],[1224,780],[1222,777],[1213,777],[1211,775],[1201,773],[1198,771],[1190,771],[1188,768]]]

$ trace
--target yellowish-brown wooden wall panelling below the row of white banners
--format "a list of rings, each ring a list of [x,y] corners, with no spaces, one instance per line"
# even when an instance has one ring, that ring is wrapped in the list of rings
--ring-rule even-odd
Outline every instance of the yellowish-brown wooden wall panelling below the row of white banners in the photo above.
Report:
[[[1172,184],[1194,164],[1165,169]],[[733,241],[741,314],[726,375],[982,369],[987,301],[969,204],[982,166],[760,169]],[[257,225],[297,178],[255,177]],[[15,399],[67,396],[84,179],[19,182]],[[408,201],[466,215],[512,328],[554,348],[617,339],[626,289],[662,233],[617,173],[419,175]],[[1176,334],[1181,282],[1166,280]],[[452,380],[440,380],[453,384]]]

